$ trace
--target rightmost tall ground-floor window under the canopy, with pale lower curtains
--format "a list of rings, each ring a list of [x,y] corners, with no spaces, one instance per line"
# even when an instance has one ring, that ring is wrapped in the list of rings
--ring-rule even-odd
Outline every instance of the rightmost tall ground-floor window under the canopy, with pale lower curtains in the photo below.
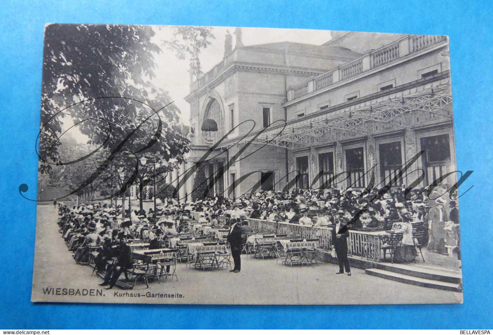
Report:
[[[421,149],[424,150],[421,159],[426,174],[426,185],[430,185],[447,173],[450,164],[449,135],[423,137]]]

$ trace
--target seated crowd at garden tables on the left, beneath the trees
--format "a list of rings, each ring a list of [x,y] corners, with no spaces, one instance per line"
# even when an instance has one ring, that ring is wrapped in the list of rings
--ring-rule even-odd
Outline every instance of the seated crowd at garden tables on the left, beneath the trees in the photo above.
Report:
[[[121,207],[106,204],[58,204],[59,232],[73,252],[77,264],[88,265],[93,257],[95,270],[105,275],[104,284],[110,289],[122,273],[128,278],[133,267],[128,242],[147,241],[149,249],[169,247],[169,238],[178,230],[188,229],[189,210],[160,209],[149,216],[145,211],[127,211],[123,219]],[[186,228],[186,229],[185,229]],[[96,255],[96,256],[94,256]],[[169,272],[169,266],[166,271]]]

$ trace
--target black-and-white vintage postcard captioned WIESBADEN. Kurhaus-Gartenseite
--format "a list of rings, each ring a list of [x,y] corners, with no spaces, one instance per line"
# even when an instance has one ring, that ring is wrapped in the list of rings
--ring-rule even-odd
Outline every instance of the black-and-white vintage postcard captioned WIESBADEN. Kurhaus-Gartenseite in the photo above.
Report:
[[[47,24],[42,66],[33,301],[462,302],[447,36]]]

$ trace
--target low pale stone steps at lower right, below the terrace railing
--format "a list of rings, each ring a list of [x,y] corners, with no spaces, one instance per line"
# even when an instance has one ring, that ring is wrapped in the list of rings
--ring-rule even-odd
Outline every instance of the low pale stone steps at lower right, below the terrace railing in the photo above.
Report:
[[[383,264],[383,265],[387,265],[387,264]],[[409,267],[411,267],[411,266],[409,266]],[[377,276],[380,278],[390,279],[390,280],[394,280],[394,281],[398,281],[398,282],[406,283],[406,284],[411,284],[411,285],[428,287],[428,288],[432,288],[432,289],[454,291],[454,292],[461,292],[462,291],[462,284],[460,284],[460,283],[451,283],[451,282],[446,282],[446,281],[427,279],[427,278],[415,276],[415,275],[431,276],[431,277],[437,276],[436,273],[430,273],[430,272],[425,273],[424,269],[423,270],[418,269],[418,271],[413,271],[410,269],[403,269],[400,266],[399,267],[387,266],[386,268],[387,269],[382,269],[382,268],[365,269],[365,273],[372,275],[372,276]],[[405,273],[409,273],[409,274],[399,273],[396,271],[401,271],[401,272],[405,272]],[[440,276],[440,275],[438,275],[438,276]],[[443,276],[443,275],[441,275],[441,276],[442,277],[440,277],[440,278],[444,278],[447,280],[453,280],[453,281],[457,280],[457,278],[453,277],[453,276],[452,277]]]

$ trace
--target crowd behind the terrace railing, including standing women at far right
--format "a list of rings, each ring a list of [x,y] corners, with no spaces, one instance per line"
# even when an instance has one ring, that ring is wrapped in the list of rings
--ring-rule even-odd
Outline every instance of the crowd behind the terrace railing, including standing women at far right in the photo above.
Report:
[[[199,221],[204,225],[218,216],[226,218],[228,225],[231,218],[260,219],[283,223],[296,223],[307,226],[334,226],[334,216],[343,219],[350,230],[360,231],[390,231],[405,235],[403,241],[409,243],[406,224],[394,226],[394,223],[412,223],[412,231],[423,231],[419,241],[422,246],[428,243],[433,247],[430,251],[449,254],[458,248],[458,219],[447,221],[445,209],[440,209],[440,220],[429,217],[430,208],[442,208],[446,202],[441,195],[446,189],[436,188],[433,197],[428,199],[425,189],[412,189],[406,196],[405,186],[393,187],[387,192],[379,193],[379,189],[355,190],[348,189],[299,189],[289,192],[264,191],[243,196],[236,201],[216,196],[212,199],[187,201],[184,209],[203,212]],[[408,200],[409,199],[409,200]],[[370,203],[369,206],[366,206]],[[367,210],[362,211],[363,208]],[[451,201],[451,207],[455,202]],[[456,209],[457,211],[457,209]],[[357,220],[352,220],[358,217]],[[433,232],[432,234],[428,234]],[[409,248],[411,249],[411,248]],[[414,248],[412,248],[414,249]],[[409,258],[406,257],[408,260]]]

